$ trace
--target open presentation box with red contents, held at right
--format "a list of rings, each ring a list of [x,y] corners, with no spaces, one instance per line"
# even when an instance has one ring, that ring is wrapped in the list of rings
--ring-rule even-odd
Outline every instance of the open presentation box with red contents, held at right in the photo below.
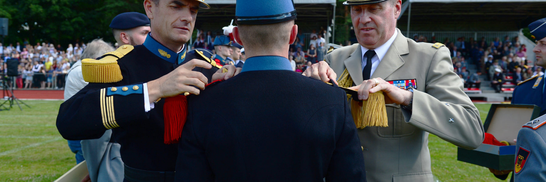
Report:
[[[508,146],[482,144],[477,149],[457,149],[457,160],[497,170],[514,169],[515,143],[521,126],[538,118],[541,108],[527,104],[491,104],[484,130]]]

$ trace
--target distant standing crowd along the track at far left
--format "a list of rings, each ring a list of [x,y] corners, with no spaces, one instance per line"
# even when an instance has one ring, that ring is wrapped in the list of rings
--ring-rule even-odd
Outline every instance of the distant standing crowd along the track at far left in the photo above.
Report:
[[[17,63],[15,84],[19,89],[62,89],[64,77],[70,65],[80,59],[85,44],[69,44],[64,48],[60,44],[50,43],[22,44],[16,42],[2,45],[0,43],[0,73],[7,77],[8,60]],[[11,79],[11,78],[10,78]]]

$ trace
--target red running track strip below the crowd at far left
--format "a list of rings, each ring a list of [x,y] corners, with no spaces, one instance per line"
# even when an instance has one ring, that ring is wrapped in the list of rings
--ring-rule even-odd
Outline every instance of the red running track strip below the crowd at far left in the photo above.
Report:
[[[13,90],[13,94],[19,99],[64,99],[64,90]],[[9,97],[11,93],[0,93],[0,98],[4,96]]]

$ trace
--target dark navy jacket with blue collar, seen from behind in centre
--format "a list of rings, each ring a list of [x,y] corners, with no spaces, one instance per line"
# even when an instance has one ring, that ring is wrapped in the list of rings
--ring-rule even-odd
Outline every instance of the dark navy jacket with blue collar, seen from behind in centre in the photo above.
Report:
[[[188,103],[176,181],[366,180],[346,93],[293,72],[287,58],[248,58]]]

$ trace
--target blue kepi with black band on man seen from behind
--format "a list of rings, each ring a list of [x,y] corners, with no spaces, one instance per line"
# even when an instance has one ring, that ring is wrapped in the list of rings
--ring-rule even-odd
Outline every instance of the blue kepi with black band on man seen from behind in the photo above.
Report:
[[[296,19],[296,9],[293,1],[237,0],[235,18],[238,25],[275,24]]]

